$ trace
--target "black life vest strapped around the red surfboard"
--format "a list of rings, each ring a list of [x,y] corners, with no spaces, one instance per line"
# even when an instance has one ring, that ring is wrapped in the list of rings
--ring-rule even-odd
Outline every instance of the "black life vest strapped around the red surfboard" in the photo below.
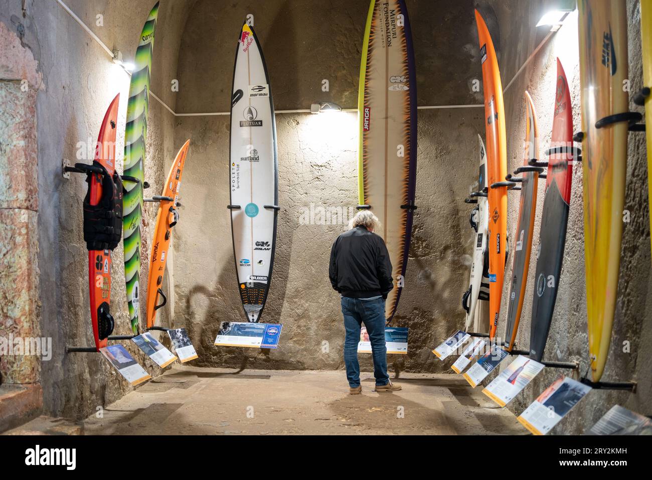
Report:
[[[113,176],[109,175],[106,168],[97,161],[93,161],[93,167],[101,168],[104,174],[88,172],[86,176],[88,191],[83,200],[83,239],[89,250],[113,250],[122,239],[122,180],[117,172]],[[93,175],[102,177],[102,197],[96,205],[90,203]]]

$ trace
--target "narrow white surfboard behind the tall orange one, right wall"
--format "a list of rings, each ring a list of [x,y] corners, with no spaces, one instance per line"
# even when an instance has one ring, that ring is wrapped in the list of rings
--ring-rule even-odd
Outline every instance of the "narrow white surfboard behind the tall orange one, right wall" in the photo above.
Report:
[[[487,171],[487,157],[484,150],[484,144],[482,143],[482,138],[478,135],[478,141],[480,142],[480,172],[478,176],[478,191],[482,192],[482,189],[486,187],[486,171]],[[487,205],[487,197],[475,197],[478,200],[477,203],[477,214],[475,215],[475,224],[477,225],[477,231],[475,235],[475,242],[473,244],[473,264],[471,265],[471,278],[469,278],[469,290],[465,293],[464,296],[464,306],[465,310],[468,307],[469,310],[466,312],[466,321],[464,322],[464,328],[468,330],[471,325],[473,325],[473,331],[479,332],[480,328],[480,317],[476,315],[476,307],[478,304],[479,297],[488,297],[488,288],[482,288],[482,278],[484,277],[483,272],[485,270],[484,264],[486,259],[486,250],[487,250],[487,229],[489,226],[489,208]],[[486,285],[488,285],[489,279],[485,280]],[[481,332],[482,333],[482,332]]]

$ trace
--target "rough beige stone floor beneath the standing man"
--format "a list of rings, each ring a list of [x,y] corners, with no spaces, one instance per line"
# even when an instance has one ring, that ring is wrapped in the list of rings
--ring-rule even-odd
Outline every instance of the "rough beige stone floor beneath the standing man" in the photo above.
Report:
[[[403,390],[349,395],[343,371],[175,366],[69,432],[110,434],[527,434],[460,376],[401,374]],[[65,432],[40,417],[8,434]],[[81,428],[80,428],[81,427]]]

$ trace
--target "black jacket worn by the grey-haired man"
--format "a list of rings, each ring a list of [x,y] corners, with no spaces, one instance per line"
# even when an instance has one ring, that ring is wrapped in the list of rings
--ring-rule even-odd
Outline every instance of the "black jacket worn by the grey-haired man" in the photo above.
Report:
[[[344,232],[331,248],[329,277],[342,296],[387,298],[394,285],[385,241],[364,227]]]

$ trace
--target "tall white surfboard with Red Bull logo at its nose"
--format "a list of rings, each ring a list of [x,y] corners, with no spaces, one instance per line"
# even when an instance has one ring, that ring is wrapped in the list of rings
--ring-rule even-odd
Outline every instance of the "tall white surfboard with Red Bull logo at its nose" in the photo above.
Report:
[[[274,104],[254,29],[243,25],[231,90],[231,232],[238,290],[247,321],[263,312],[274,264],[278,161]]]

